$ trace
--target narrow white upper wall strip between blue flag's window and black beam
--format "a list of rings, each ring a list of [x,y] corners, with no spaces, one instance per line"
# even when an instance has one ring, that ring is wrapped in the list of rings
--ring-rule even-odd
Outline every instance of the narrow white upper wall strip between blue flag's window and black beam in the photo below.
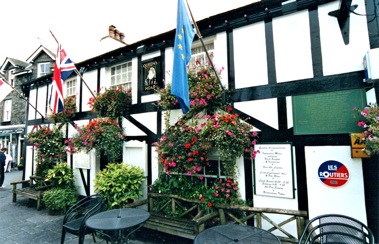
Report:
[[[213,57],[213,64],[216,65],[216,69],[224,69],[221,72],[221,83],[227,89],[228,87],[228,56],[227,56],[227,39],[226,32],[221,32],[216,35],[214,39],[215,52]]]

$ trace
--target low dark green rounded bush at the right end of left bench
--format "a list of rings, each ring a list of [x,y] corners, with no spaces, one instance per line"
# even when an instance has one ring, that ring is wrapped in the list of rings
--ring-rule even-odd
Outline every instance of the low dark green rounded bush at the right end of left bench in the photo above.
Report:
[[[44,204],[49,210],[61,210],[65,214],[67,209],[78,202],[78,193],[75,188],[52,188],[45,191]]]

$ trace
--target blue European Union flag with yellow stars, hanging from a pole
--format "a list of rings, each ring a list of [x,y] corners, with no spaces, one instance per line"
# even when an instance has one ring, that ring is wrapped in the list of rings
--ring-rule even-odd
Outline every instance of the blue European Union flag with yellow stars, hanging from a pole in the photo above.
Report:
[[[191,45],[195,32],[183,0],[178,0],[177,31],[174,46],[174,65],[171,94],[177,96],[183,113],[189,111],[187,63],[191,59]]]

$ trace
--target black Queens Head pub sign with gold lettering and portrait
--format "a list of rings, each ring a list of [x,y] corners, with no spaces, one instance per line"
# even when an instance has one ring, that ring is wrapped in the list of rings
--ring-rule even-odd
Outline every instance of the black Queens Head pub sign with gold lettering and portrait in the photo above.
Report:
[[[154,92],[157,87],[161,87],[162,74],[160,66],[160,58],[150,59],[142,63],[142,92]]]

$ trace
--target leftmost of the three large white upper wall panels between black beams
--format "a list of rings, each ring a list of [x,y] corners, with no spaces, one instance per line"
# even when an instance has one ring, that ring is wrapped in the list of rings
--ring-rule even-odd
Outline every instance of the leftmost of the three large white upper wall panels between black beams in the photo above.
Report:
[[[234,29],[233,44],[236,89],[267,85],[265,23],[262,21]]]

